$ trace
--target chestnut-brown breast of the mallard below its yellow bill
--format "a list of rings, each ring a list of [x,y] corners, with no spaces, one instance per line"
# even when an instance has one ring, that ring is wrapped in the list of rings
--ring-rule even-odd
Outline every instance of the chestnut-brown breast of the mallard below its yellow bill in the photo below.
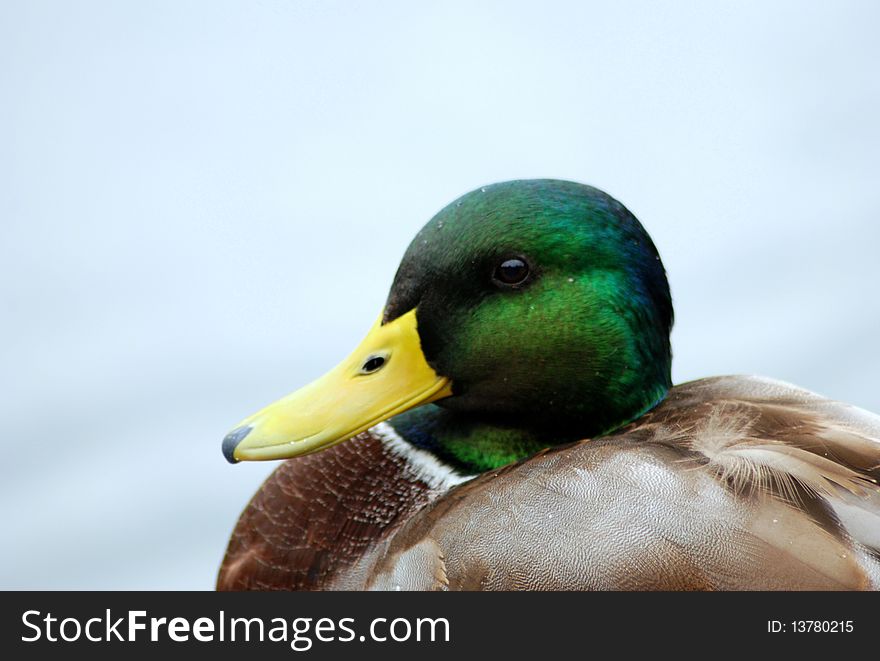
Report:
[[[370,432],[288,460],[242,513],[217,589],[326,589],[436,495]]]

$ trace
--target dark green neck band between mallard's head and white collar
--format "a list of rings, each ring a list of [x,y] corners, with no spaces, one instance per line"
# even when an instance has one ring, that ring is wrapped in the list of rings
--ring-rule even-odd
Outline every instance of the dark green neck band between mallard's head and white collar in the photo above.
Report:
[[[450,411],[434,404],[407,411],[388,422],[415,447],[430,452],[462,474],[474,475],[525,459],[554,445],[610,433],[654,408],[666,392],[663,388],[652,393],[638,410],[621,415],[610,427],[594,430],[587,430],[583,424],[512,423],[509,419],[501,421],[491,416]]]

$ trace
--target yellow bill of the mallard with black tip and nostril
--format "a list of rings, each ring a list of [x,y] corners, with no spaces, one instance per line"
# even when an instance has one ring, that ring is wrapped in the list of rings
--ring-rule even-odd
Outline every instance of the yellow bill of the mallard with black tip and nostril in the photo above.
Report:
[[[450,380],[425,360],[415,310],[386,324],[379,315],[333,370],[242,420],[223,454],[231,463],[310,454],[451,394]]]

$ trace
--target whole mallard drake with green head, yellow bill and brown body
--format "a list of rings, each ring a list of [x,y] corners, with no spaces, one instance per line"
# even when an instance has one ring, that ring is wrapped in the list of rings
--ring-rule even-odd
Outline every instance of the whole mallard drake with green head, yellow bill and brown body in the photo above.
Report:
[[[764,377],[673,385],[672,324],[610,195],[465,194],[362,343],[224,438],[283,463],[217,589],[878,589],[880,417]]]

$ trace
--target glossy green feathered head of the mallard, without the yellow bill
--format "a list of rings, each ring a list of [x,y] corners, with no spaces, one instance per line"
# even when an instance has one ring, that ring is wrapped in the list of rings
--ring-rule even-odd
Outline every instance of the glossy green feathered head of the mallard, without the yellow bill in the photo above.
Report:
[[[444,208],[406,251],[384,321],[413,309],[450,411],[589,437],[671,385],[663,264],[635,216],[589,186],[509,181]]]

